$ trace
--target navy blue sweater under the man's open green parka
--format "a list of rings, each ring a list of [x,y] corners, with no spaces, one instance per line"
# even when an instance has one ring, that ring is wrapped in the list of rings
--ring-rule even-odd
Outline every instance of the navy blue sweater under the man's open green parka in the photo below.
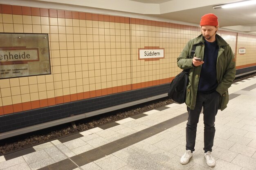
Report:
[[[218,44],[204,41],[204,64],[200,73],[198,91],[200,93],[212,93],[218,86],[216,77],[216,63],[218,57]]]

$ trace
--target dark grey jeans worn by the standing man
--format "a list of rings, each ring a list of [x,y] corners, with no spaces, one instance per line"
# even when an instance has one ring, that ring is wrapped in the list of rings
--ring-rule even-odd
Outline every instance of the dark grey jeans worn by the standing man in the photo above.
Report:
[[[195,150],[196,128],[203,107],[204,115],[204,152],[212,151],[213,139],[215,135],[215,116],[218,112],[220,94],[214,91],[210,94],[198,93],[196,97],[195,109],[187,107],[189,118],[186,124],[186,150]]]

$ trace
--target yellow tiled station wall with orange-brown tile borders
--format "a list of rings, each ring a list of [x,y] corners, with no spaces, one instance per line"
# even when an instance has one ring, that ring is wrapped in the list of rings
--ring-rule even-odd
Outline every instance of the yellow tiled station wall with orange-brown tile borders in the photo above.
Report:
[[[0,32],[48,33],[52,69],[51,75],[0,79],[0,115],[7,115],[171,82],[180,72],[177,56],[200,28],[0,4]],[[256,36],[219,33],[233,51],[236,43],[251,49],[246,60],[236,55],[238,66],[256,65]],[[164,58],[139,60],[145,47],[164,48]]]

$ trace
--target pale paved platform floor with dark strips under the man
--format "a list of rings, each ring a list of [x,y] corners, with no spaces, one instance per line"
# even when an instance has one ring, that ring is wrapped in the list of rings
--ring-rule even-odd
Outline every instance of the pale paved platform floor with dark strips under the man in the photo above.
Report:
[[[0,170],[256,170],[256,77],[232,84],[216,116],[212,155],[203,151],[203,115],[195,152],[185,152],[185,104],[170,104],[26,150],[0,156]]]

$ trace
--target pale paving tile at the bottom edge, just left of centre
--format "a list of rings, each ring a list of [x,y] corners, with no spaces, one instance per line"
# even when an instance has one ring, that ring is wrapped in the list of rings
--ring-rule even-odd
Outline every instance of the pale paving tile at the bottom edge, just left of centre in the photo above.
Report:
[[[96,164],[104,170],[118,170],[119,168],[122,168],[127,165],[126,162],[122,161],[121,159],[115,156],[100,161]]]

